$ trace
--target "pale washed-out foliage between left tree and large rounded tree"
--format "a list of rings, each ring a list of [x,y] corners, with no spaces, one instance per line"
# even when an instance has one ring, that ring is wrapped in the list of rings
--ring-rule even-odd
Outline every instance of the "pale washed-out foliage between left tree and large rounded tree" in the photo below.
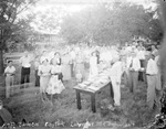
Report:
[[[56,34],[60,31],[61,19],[65,14],[65,9],[62,6],[45,8],[45,10],[34,12],[31,24],[37,31],[45,34]]]

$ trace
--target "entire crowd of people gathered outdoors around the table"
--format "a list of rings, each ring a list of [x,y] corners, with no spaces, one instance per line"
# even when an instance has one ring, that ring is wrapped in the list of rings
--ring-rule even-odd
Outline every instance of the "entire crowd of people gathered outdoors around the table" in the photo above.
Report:
[[[147,56],[148,55],[148,56]],[[25,53],[20,58],[21,84],[30,82],[32,64],[35,69],[35,86],[40,86],[42,100],[46,94],[60,95],[65,89],[65,82],[76,79],[82,83],[97,76],[101,67],[111,67],[110,78],[114,92],[115,106],[121,106],[122,76],[131,93],[135,93],[138,80],[147,83],[147,104],[149,108],[156,105],[156,89],[162,89],[158,50],[153,45],[146,51],[142,42],[126,43],[124,46],[89,46],[72,45],[59,50],[44,50],[32,60]],[[15,68],[12,61],[4,71],[6,85],[10,87]],[[87,73],[87,74],[86,74]],[[10,80],[9,80],[10,79]],[[7,93],[9,89],[7,88]],[[9,97],[9,95],[7,95]],[[58,97],[58,96],[56,96]]]

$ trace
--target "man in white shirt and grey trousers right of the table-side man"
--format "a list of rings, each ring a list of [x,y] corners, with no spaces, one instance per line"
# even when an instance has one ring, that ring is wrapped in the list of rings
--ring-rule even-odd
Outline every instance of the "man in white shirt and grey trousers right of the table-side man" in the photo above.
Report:
[[[129,90],[131,93],[135,93],[135,89],[137,87],[137,82],[138,82],[138,71],[141,69],[141,62],[137,58],[136,53],[132,53],[132,60],[128,69],[129,69],[129,75],[128,75]]]

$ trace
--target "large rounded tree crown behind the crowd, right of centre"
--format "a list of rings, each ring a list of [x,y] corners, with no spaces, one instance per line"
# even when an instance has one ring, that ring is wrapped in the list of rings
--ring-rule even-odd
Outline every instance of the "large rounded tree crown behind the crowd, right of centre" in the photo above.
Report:
[[[163,30],[156,10],[115,1],[95,4],[63,20],[61,34],[69,43],[93,41],[97,44],[128,41],[134,35],[158,40]],[[72,33],[71,33],[72,32]]]

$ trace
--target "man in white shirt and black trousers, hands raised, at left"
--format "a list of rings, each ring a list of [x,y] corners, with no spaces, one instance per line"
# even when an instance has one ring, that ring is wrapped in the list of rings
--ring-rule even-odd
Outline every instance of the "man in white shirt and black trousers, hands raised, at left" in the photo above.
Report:
[[[30,83],[30,68],[31,68],[31,58],[28,52],[24,53],[24,56],[20,58],[21,64],[21,84]]]

